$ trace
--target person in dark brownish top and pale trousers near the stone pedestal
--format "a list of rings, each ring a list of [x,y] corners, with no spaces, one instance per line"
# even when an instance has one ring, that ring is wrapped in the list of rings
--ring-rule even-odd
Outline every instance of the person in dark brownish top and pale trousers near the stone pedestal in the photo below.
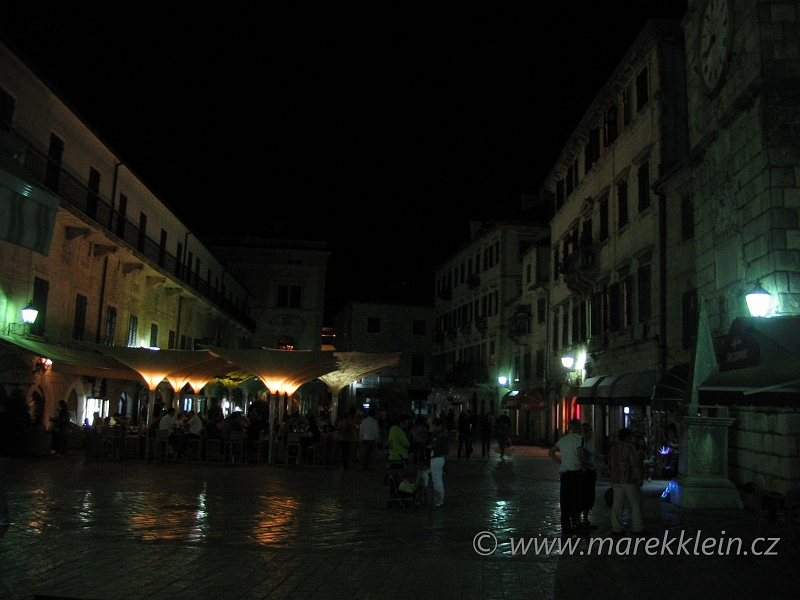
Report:
[[[611,533],[624,535],[622,529],[622,511],[625,502],[631,505],[631,528],[634,533],[644,531],[642,517],[642,459],[633,445],[633,431],[627,427],[619,430],[619,443],[609,451],[609,467],[611,469],[611,487],[614,489],[614,503],[611,506]]]

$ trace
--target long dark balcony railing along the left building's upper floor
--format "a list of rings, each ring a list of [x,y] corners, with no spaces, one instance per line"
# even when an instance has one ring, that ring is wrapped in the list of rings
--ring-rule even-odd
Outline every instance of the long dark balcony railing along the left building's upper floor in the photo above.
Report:
[[[115,235],[120,240],[136,249],[145,258],[158,265],[165,271],[172,273],[177,279],[206,298],[217,308],[236,319],[250,331],[255,331],[255,321],[233,302],[225,298],[222,293],[214,289],[209,283],[200,278],[198,273],[191,272],[187,267],[169,252],[161,247],[155,240],[148,237],[145,231],[139,229],[125,218],[125,215],[114,210],[111,203],[103,196],[92,192],[78,177],[64,167],[51,161],[45,153],[36,148],[17,131],[12,131],[20,141],[26,145],[24,165],[31,176],[42,183],[64,202],[82,212],[92,219],[97,225]]]

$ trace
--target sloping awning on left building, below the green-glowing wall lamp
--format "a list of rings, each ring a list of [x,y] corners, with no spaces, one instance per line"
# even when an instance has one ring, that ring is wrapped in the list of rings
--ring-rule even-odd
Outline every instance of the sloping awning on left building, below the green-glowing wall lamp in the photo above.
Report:
[[[17,351],[21,350],[28,355],[50,359],[53,361],[52,369],[57,373],[135,381],[142,379],[134,369],[102,352],[50,344],[21,336],[0,334],[0,339],[4,344],[16,348]]]

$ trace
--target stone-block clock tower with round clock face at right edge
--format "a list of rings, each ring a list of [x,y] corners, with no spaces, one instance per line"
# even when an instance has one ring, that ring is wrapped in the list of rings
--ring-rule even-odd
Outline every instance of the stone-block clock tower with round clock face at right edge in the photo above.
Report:
[[[712,332],[800,314],[800,3],[689,0],[683,21],[696,289]]]

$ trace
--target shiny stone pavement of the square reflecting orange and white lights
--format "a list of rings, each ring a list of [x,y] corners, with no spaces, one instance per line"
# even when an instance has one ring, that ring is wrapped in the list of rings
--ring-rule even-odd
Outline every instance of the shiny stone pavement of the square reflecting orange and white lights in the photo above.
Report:
[[[386,507],[383,468],[9,459],[0,598],[797,597],[800,553],[781,523],[759,532],[782,538],[777,555],[755,556],[754,511],[680,509],[661,499],[665,482],[645,484],[648,536],[739,537],[747,555],[687,556],[694,541],[680,556],[648,556],[644,543],[626,555],[618,539],[598,555],[599,539],[577,538],[572,553],[536,554],[560,541],[557,465],[542,448],[512,452],[451,452],[445,506],[402,510]],[[593,535],[611,540],[606,487]],[[494,548],[481,532],[497,540],[491,555],[475,549]],[[523,554],[519,540],[531,538]]]

